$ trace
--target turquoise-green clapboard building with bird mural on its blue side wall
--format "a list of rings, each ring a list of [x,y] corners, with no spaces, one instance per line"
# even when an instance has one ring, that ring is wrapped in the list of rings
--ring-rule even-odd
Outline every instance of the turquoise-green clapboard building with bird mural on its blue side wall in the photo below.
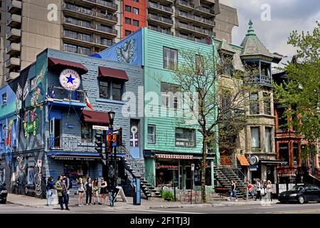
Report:
[[[177,116],[184,110],[184,106],[179,103],[178,95],[170,94],[178,91],[178,86],[174,84],[174,71],[170,66],[183,61],[179,53],[181,50],[208,55],[215,52],[215,47],[142,28],[95,56],[132,63],[144,69],[144,88],[141,89],[144,106],[141,97],[136,103],[142,110],[139,113],[144,117],[143,123],[138,126],[144,135],[139,140],[139,146],[143,147],[141,158],[144,158],[144,175],[155,187],[173,187],[175,182],[176,187],[184,190],[191,188],[192,180],[194,186],[201,185],[199,163],[202,158],[202,135],[197,130],[198,125],[192,125],[185,118]],[[132,137],[134,133],[137,133],[137,128],[132,130]],[[208,154],[208,186],[213,185],[213,160],[217,148],[215,146]],[[192,164],[195,167],[194,176],[191,172]]]

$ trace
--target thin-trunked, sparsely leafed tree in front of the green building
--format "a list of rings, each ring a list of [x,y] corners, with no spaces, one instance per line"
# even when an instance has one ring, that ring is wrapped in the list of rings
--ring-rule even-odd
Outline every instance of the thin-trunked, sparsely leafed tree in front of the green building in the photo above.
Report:
[[[256,71],[234,71],[232,56],[220,57],[201,51],[179,50],[181,61],[175,66],[174,82],[181,88],[184,124],[196,126],[202,135],[201,198],[206,202],[206,157],[208,145],[227,144],[246,123],[250,91]],[[191,121],[185,120],[194,120]],[[220,136],[220,137],[219,137]]]

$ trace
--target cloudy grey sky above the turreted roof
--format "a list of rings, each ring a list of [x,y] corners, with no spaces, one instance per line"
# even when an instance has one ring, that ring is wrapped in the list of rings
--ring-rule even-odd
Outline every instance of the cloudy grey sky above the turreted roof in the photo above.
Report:
[[[320,21],[320,0],[220,0],[220,3],[238,10],[239,26],[233,28],[233,43],[240,45],[252,19],[255,33],[267,49],[289,57],[296,53],[287,44],[289,34],[294,30],[313,31],[316,21]],[[270,14],[266,14],[269,6]]]

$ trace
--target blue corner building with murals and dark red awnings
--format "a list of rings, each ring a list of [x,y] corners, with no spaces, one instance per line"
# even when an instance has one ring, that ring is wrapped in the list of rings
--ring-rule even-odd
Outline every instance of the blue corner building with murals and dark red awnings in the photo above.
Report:
[[[139,66],[53,49],[39,53],[36,62],[0,88],[1,181],[11,191],[45,197],[49,176],[110,175],[94,142],[95,134],[107,130],[112,110],[114,128],[122,128],[118,176],[125,185],[124,159],[142,157],[143,129],[139,115],[128,118],[122,98],[138,95],[142,84]]]

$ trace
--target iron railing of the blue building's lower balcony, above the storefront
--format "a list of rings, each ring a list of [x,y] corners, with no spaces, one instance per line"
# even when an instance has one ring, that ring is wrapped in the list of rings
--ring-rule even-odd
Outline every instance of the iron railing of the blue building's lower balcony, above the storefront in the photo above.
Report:
[[[49,150],[64,150],[70,152],[97,152],[97,145],[92,139],[70,138],[70,137],[49,137]]]

